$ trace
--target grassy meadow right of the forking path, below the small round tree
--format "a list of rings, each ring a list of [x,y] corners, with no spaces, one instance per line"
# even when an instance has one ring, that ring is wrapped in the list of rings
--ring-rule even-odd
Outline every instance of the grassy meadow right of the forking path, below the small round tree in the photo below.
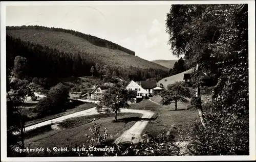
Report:
[[[154,97],[155,102],[159,97]],[[180,140],[189,130],[189,125],[193,122],[199,122],[199,114],[197,110],[186,110],[188,103],[178,102],[178,110],[175,111],[175,105],[172,103],[167,106],[156,104],[150,100],[142,100],[139,103],[131,105],[130,109],[151,110],[157,114],[154,121],[150,121],[142,133],[148,133],[150,136],[157,136],[164,129],[170,130]]]

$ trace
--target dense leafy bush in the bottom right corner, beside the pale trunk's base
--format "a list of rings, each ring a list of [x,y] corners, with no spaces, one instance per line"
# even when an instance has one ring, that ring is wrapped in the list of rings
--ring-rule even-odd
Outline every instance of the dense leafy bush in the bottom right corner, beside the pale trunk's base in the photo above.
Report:
[[[243,119],[220,120],[218,116],[204,113],[208,126],[203,127],[201,123],[191,126],[193,129],[188,131],[190,152],[194,155],[249,155],[249,140],[245,140],[249,139],[246,132],[248,124]]]

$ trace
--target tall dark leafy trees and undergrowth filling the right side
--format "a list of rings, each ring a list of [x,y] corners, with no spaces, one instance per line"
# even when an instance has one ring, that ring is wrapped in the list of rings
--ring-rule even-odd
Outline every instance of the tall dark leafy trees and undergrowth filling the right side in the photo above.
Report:
[[[175,55],[189,67],[199,63],[218,82],[205,127],[191,131],[191,151],[248,155],[248,5],[173,5],[166,32]]]

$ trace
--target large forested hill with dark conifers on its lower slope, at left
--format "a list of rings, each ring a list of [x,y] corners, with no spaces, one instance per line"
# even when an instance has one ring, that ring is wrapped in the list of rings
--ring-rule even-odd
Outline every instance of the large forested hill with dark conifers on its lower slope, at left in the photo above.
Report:
[[[90,76],[97,72],[142,80],[165,77],[168,69],[135,56],[135,52],[107,40],[79,32],[43,26],[8,26],[7,67],[14,58],[27,58],[32,77]],[[95,72],[95,74],[97,73]]]

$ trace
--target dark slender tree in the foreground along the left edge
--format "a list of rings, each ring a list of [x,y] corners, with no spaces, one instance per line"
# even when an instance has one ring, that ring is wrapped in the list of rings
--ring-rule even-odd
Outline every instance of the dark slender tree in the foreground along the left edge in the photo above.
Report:
[[[15,147],[24,148],[25,120],[24,114],[27,97],[33,97],[31,84],[26,79],[13,79],[10,88],[12,95],[7,92],[7,148],[8,154],[14,152]]]

